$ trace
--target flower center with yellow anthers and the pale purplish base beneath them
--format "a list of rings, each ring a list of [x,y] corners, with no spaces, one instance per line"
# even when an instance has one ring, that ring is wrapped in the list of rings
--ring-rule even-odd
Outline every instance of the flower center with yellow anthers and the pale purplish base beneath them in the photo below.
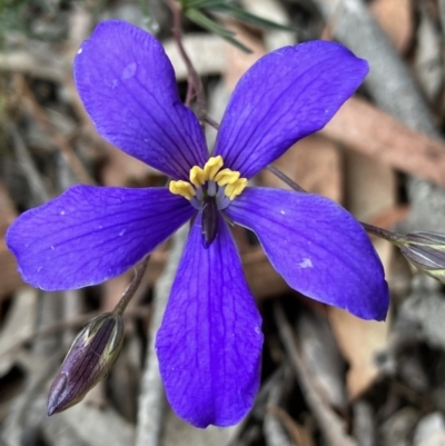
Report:
[[[221,156],[211,157],[202,168],[194,166],[190,169],[190,181],[170,181],[169,190],[187,198],[199,210],[205,209],[210,201],[216,205],[216,209],[222,210],[247,186],[247,179],[239,178],[239,172],[221,169],[222,166]]]

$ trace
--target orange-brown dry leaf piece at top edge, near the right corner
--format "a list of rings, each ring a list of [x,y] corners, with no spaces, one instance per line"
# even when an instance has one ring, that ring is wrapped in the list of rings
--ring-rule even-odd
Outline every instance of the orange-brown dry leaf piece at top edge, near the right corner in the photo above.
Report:
[[[414,32],[412,0],[375,0],[370,10],[399,52],[405,52]]]

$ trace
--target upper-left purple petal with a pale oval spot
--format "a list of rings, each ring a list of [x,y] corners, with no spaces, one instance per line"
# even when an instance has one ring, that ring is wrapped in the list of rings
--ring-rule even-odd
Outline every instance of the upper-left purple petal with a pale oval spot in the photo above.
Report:
[[[181,103],[171,63],[149,33],[118,20],[100,23],[77,53],[75,80],[109,142],[175,179],[206,162],[198,120]]]

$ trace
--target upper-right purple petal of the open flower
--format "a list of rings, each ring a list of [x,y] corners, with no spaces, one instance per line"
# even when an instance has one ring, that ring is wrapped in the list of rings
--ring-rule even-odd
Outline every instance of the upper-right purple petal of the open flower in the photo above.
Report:
[[[367,72],[365,60],[322,40],[263,57],[230,98],[215,155],[251,178],[297,140],[320,130]]]

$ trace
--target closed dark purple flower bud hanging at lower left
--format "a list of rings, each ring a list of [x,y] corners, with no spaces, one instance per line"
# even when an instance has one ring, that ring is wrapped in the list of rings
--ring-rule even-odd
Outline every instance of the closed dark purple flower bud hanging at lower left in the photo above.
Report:
[[[110,370],[123,344],[120,315],[90,320],[76,337],[48,395],[48,416],[81,402]]]

